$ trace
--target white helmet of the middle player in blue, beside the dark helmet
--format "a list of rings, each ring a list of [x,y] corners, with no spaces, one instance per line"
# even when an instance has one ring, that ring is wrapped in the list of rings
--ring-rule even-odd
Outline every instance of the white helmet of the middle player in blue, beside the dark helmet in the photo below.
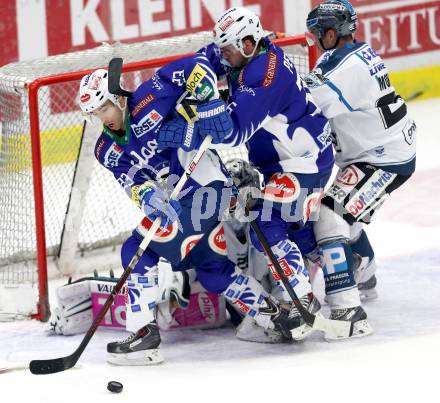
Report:
[[[243,39],[252,36],[255,43],[264,36],[260,18],[252,11],[243,7],[233,7],[226,10],[214,26],[214,43],[223,48],[233,45],[244,57]]]

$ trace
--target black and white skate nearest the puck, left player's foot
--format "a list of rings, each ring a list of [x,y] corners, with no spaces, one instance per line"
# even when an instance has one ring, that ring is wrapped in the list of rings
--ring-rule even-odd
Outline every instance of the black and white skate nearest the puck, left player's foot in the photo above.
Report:
[[[163,361],[160,333],[156,322],[132,333],[123,341],[107,344],[107,362],[113,365],[152,365]]]

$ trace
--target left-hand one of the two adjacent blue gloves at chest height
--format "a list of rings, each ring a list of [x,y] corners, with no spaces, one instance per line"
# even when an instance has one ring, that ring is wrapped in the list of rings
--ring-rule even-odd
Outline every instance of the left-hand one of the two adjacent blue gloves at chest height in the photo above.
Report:
[[[198,148],[202,140],[197,125],[179,116],[164,122],[157,135],[159,148],[181,148],[187,152]]]

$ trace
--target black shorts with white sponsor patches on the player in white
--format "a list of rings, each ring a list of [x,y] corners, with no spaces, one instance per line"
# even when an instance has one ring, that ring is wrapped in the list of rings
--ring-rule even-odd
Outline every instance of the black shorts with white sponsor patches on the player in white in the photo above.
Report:
[[[410,177],[367,163],[351,164],[338,172],[333,184],[325,192],[322,204],[342,216],[349,224],[369,224],[374,212],[388,195]]]

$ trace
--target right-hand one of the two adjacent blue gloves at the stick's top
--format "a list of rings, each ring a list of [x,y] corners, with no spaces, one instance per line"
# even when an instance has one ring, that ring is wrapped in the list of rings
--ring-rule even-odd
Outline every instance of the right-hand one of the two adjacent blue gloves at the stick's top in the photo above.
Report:
[[[226,110],[226,104],[221,99],[215,99],[206,104],[197,106],[200,134],[205,138],[208,134],[212,136],[212,143],[223,143],[234,128],[231,116]]]

